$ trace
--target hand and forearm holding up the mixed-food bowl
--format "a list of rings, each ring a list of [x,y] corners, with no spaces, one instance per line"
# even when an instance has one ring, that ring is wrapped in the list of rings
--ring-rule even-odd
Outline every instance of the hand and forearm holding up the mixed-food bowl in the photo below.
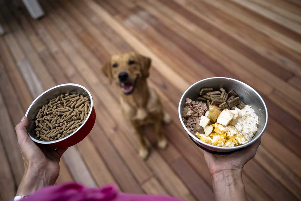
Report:
[[[216,200],[247,200],[242,168],[255,156],[260,143],[259,138],[250,146],[228,155],[204,151]]]

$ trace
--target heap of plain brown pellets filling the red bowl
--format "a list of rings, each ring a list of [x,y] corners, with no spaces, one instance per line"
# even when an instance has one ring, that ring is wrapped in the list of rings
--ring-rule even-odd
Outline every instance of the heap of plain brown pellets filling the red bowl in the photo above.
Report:
[[[36,116],[35,139],[54,141],[67,137],[85,121],[91,108],[88,97],[61,94],[49,100]]]

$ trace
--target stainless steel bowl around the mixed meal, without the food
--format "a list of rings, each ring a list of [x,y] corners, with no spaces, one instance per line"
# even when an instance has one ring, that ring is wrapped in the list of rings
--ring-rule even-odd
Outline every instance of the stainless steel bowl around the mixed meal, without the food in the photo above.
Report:
[[[185,100],[186,98],[190,98],[192,100],[197,100],[200,90],[202,88],[213,88],[216,90],[219,90],[220,88],[224,88],[226,91],[234,90],[237,95],[240,97],[241,101],[246,103],[247,105],[250,105],[256,115],[259,117],[259,124],[258,124],[258,130],[256,131],[254,137],[252,140],[244,145],[234,146],[234,147],[219,147],[210,145],[207,143],[204,143],[199,138],[194,136],[185,126],[183,120],[182,120],[182,114],[183,109],[185,106]],[[200,80],[191,86],[188,87],[188,89],[183,93],[179,106],[178,106],[178,115],[181,121],[182,126],[188,133],[188,136],[194,142],[200,146],[201,148],[204,148],[205,150],[208,149],[209,151],[222,153],[222,152],[232,152],[236,151],[238,149],[244,148],[252,143],[254,143],[256,140],[259,139],[259,137],[264,133],[265,128],[268,124],[268,110],[266,108],[265,102],[263,101],[262,97],[257,93],[252,87],[247,85],[246,83],[243,83],[239,80],[234,80],[232,78],[227,77],[211,77],[204,80]]]

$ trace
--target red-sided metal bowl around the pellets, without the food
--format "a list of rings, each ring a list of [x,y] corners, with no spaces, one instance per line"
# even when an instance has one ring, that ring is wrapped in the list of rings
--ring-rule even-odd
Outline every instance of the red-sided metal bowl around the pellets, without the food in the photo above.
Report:
[[[36,115],[38,114],[39,109],[42,108],[43,105],[47,104],[49,100],[56,98],[61,94],[66,94],[66,93],[70,93],[70,94],[77,93],[77,94],[82,94],[83,96],[88,96],[91,102],[91,109],[89,111],[88,117],[85,119],[84,123],[76,131],[74,131],[67,137],[62,138],[61,140],[54,140],[50,142],[43,142],[40,140],[36,140],[34,138],[35,136],[34,129],[36,128],[35,118]],[[31,103],[31,105],[26,111],[25,116],[29,120],[27,132],[30,138],[35,143],[52,146],[54,148],[67,148],[76,145],[77,143],[82,141],[92,130],[96,118],[91,93],[84,86],[79,84],[73,84],[73,83],[57,85],[42,93]]]

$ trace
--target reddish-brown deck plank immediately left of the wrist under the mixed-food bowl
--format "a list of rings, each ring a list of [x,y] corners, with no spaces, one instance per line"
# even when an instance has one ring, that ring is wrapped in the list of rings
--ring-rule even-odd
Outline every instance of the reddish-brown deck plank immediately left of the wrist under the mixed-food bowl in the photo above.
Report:
[[[182,157],[173,161],[172,167],[199,200],[214,200],[213,190],[209,187],[206,188],[202,178]]]

